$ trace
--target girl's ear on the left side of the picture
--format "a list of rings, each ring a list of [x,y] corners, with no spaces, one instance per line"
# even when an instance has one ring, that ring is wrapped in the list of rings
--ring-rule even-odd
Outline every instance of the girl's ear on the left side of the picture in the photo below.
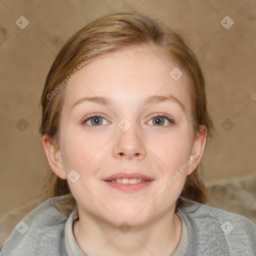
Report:
[[[51,169],[62,179],[66,179],[66,174],[64,171],[64,165],[62,161],[61,152],[56,145],[56,142],[53,143],[48,135],[42,136],[42,144],[44,152],[47,156],[48,163]]]

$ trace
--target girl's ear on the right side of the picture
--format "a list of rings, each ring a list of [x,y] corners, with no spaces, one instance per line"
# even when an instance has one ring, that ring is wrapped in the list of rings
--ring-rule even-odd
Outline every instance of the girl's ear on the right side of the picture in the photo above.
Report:
[[[187,168],[187,175],[190,175],[197,165],[200,163],[203,150],[206,143],[206,134],[207,128],[205,125],[202,125],[200,128],[201,132],[197,133],[197,136],[194,138],[191,154],[189,160],[192,162]],[[190,163],[190,162],[189,162]]]

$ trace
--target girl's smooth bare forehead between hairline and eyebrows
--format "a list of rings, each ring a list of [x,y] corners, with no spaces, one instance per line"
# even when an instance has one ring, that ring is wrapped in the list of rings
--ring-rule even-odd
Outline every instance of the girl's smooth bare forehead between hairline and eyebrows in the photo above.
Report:
[[[125,107],[125,104],[134,106],[147,96],[171,94],[183,103],[189,114],[188,78],[183,72],[174,80],[169,72],[176,67],[177,64],[159,50],[146,46],[99,55],[67,84],[63,108],[70,110],[85,96],[107,96]]]

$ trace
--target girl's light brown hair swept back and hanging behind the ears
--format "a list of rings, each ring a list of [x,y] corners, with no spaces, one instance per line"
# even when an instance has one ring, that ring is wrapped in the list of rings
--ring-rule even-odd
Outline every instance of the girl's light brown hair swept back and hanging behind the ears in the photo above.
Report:
[[[64,84],[63,81],[79,63],[83,63],[86,68],[86,64],[89,63],[84,62],[85,58],[93,52],[97,52],[96,58],[100,54],[107,54],[131,45],[157,48],[182,68],[189,77],[187,85],[191,102],[193,137],[201,132],[201,125],[205,125],[208,140],[211,137],[213,124],[206,107],[204,77],[195,54],[186,45],[179,32],[156,19],[130,12],[109,14],[88,23],[61,48],[50,67],[41,95],[40,134],[48,135],[51,141],[59,146],[60,112],[65,91],[65,88],[59,85]],[[57,87],[61,89],[56,90]],[[52,96],[53,91],[56,92],[54,96]],[[198,166],[187,176],[181,196],[204,203],[207,190],[199,175]],[[66,179],[59,178],[52,170],[48,172],[45,189],[49,198],[66,195],[57,205],[64,214],[68,215],[76,207]],[[176,207],[181,206],[182,201],[178,200]]]

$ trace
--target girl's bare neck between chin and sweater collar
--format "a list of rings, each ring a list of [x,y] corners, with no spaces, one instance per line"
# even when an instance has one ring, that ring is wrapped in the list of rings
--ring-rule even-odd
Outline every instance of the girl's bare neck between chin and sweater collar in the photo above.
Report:
[[[74,222],[73,232],[78,245],[88,255],[144,256],[160,253],[169,256],[180,240],[181,221],[172,208],[146,225],[121,231],[118,226],[85,214],[79,215]]]

